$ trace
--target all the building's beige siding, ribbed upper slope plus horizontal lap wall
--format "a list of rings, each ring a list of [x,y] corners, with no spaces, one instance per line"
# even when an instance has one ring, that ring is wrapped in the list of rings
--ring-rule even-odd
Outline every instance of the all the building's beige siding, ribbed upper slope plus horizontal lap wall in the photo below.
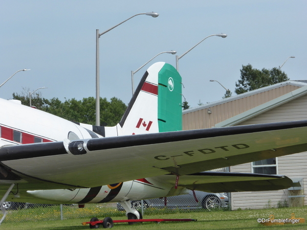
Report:
[[[211,128],[217,123],[232,118],[239,113],[269,102],[298,88],[300,87],[284,85],[248,97],[228,100],[227,102],[221,101],[220,104],[217,103],[210,107],[210,114],[207,112],[209,107],[204,105],[202,107],[203,109],[183,114],[183,129]],[[273,108],[254,118],[244,121],[239,125],[303,119],[307,119],[307,96],[302,96],[279,107]],[[306,164],[307,152],[278,157],[277,160],[278,174],[286,175],[292,179],[303,178],[302,188],[304,195],[307,196]],[[252,163],[231,166],[230,171],[251,173]],[[278,191],[231,193],[231,205],[233,210],[238,208],[263,209],[272,206],[276,208],[278,204],[283,204],[285,200],[289,204],[288,189]],[[307,197],[304,199],[304,204],[307,205]]]

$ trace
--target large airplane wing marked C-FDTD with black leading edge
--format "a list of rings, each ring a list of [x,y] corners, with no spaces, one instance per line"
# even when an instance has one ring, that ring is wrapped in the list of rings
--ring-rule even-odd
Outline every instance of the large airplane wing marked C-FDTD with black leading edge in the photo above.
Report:
[[[0,185],[84,188],[307,151],[307,121],[4,146]]]

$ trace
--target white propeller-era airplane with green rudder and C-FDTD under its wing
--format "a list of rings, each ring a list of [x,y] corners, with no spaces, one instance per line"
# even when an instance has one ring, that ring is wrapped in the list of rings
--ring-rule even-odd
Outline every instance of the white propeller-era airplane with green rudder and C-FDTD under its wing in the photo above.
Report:
[[[119,201],[140,219],[129,201],[292,186],[286,176],[205,171],[307,151],[307,121],[182,131],[181,82],[172,65],[151,65],[114,127],[0,99],[0,207]]]

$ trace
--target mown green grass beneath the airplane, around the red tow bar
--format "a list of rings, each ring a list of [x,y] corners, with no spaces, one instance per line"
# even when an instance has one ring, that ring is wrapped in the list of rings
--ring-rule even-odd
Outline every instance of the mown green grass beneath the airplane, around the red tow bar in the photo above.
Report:
[[[52,210],[52,208],[50,209]],[[76,209],[80,210],[80,209]],[[89,210],[82,209],[81,212],[86,212]],[[95,209],[94,209],[95,210]],[[20,212],[20,211],[18,211]],[[78,211],[79,212],[79,211]],[[147,214],[146,214],[147,213]],[[144,218],[153,219],[153,218],[190,218],[198,219],[198,221],[192,222],[161,222],[159,224],[155,222],[147,223],[136,223],[134,225],[128,225],[127,223],[115,223],[114,229],[133,229],[133,230],[143,230],[144,228],[164,230],[164,229],[307,229],[307,223],[301,224],[287,224],[287,225],[277,225],[277,226],[262,226],[257,222],[257,218],[269,218],[270,215],[274,215],[275,219],[278,218],[291,218],[291,214],[295,213],[296,218],[305,218],[307,222],[307,206],[302,208],[280,208],[280,209],[262,209],[262,210],[238,210],[238,211],[195,211],[195,212],[178,212],[171,211],[169,214],[162,214],[156,210],[153,212],[148,209],[144,214]],[[153,214],[152,214],[153,213]],[[96,211],[91,211],[91,214],[103,219],[105,210],[100,209],[100,214],[97,214]],[[115,212],[115,215],[109,215],[112,219],[126,219],[123,212]],[[8,214],[9,217],[10,213]],[[42,214],[43,215],[43,214]],[[93,216],[91,216],[93,217]],[[65,220],[40,220],[40,221],[22,221],[16,222],[11,220],[6,220],[2,225],[1,229],[56,229],[56,230],[78,230],[78,229],[89,229],[89,225],[82,226],[82,222],[89,221],[91,217],[82,217],[75,219],[65,219]],[[19,219],[20,220],[20,219]],[[20,220],[21,221],[21,220]],[[102,228],[102,226],[100,226]]]

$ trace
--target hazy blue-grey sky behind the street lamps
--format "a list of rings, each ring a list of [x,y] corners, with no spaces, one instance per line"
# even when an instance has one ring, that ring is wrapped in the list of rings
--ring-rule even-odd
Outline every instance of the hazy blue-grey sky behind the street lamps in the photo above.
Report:
[[[38,89],[43,98],[96,95],[96,30],[99,38],[100,97],[117,97],[126,105],[131,71],[157,54],[177,51],[183,100],[190,107],[222,100],[224,87],[235,96],[242,65],[273,68],[282,65],[290,80],[307,80],[305,0],[53,0],[0,2],[0,98],[12,99]],[[153,63],[176,67],[176,55],[163,53],[135,74],[135,88]]]

